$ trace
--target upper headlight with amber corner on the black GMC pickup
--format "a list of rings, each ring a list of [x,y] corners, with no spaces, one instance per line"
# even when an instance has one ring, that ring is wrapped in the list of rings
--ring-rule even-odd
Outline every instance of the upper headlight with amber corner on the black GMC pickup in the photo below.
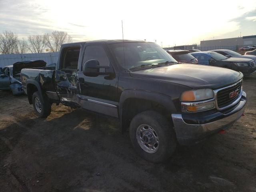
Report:
[[[180,101],[201,101],[213,98],[211,89],[197,89],[185,91],[180,96]]]

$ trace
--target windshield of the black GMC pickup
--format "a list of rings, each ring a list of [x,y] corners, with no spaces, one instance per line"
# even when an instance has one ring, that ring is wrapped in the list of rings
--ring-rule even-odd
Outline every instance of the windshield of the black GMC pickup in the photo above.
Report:
[[[160,46],[150,42],[124,42],[110,44],[118,64],[125,69],[150,66],[164,62],[177,62]]]

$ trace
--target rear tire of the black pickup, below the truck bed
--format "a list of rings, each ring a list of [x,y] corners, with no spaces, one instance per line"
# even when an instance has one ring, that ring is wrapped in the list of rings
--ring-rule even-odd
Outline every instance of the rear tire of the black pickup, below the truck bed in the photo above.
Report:
[[[37,100],[37,101],[36,101]],[[37,102],[40,102],[40,108],[37,106],[36,107],[36,103]],[[36,115],[38,117],[42,117],[42,118],[45,118],[47,116],[50,115],[51,113],[51,104],[50,104],[50,101],[47,97],[46,94],[43,94],[43,97],[37,92],[34,92],[33,93],[33,96],[32,96],[32,102],[33,102],[33,107],[34,107],[34,110],[36,112]],[[40,110],[41,109],[41,110]]]

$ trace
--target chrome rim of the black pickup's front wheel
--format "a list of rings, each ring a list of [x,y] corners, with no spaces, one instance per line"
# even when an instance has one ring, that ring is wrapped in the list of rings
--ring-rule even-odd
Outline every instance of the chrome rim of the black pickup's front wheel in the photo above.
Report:
[[[138,126],[136,130],[136,139],[140,147],[148,152],[155,153],[159,148],[159,138],[156,131],[147,124]]]

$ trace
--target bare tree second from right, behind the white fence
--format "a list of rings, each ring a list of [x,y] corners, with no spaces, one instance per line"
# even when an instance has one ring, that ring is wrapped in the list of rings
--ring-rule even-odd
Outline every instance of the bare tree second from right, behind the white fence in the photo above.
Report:
[[[28,36],[28,49],[32,53],[42,53],[46,48],[46,39],[44,35]]]

